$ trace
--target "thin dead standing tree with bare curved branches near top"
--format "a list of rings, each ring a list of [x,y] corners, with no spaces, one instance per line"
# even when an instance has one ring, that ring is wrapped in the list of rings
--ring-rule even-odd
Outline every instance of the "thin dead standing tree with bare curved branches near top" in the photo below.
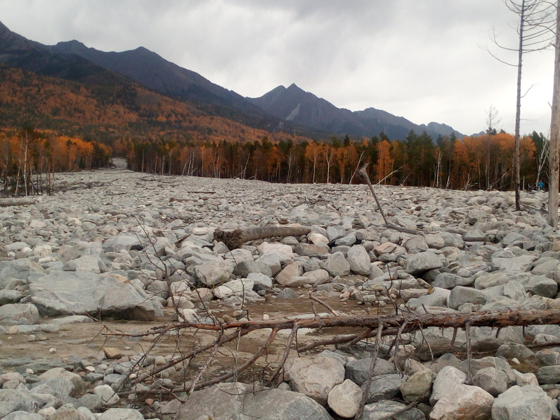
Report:
[[[514,176],[515,176],[515,209],[519,211],[520,204],[520,152],[519,152],[519,137],[520,137],[520,122],[521,122],[521,68],[523,63],[523,54],[535,51],[544,50],[552,46],[553,40],[553,27],[555,22],[554,13],[556,8],[552,3],[546,0],[504,0],[507,8],[519,16],[519,23],[517,24],[517,34],[519,35],[519,45],[517,48],[509,48],[498,42],[496,33],[492,32],[492,42],[499,48],[516,52],[517,64],[511,64],[502,60],[496,55],[492,54],[488,48],[486,50],[501,63],[508,66],[517,67],[517,95],[516,95],[516,108],[515,108],[515,153],[514,153]]]

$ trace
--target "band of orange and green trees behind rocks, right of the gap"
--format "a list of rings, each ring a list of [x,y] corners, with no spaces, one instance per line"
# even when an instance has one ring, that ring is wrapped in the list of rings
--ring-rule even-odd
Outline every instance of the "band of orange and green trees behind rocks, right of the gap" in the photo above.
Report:
[[[447,189],[512,189],[515,186],[515,136],[489,129],[482,136],[457,139],[410,131],[391,141],[384,133],[361,140],[253,142],[147,141],[120,138],[116,153],[129,169],[167,175],[257,179],[280,183],[360,183],[366,162],[371,179],[386,185]],[[525,188],[547,181],[548,141],[533,132],[520,141]]]

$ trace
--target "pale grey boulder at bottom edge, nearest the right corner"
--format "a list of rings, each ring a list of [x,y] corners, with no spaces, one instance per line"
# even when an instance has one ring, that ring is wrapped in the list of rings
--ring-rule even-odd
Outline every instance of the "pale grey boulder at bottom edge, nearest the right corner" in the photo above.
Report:
[[[550,420],[552,400],[538,385],[514,385],[492,404],[493,420]]]

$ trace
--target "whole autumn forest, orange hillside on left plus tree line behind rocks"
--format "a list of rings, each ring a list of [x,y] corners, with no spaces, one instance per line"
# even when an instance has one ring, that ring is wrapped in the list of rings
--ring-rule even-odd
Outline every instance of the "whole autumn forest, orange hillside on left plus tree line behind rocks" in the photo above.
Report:
[[[49,174],[95,169],[111,155],[129,169],[161,175],[280,183],[361,183],[447,189],[514,188],[515,138],[488,129],[477,137],[324,141],[251,128],[127,80],[97,86],[0,67],[0,179],[3,195],[50,193]],[[521,182],[547,181],[548,141],[520,141]]]

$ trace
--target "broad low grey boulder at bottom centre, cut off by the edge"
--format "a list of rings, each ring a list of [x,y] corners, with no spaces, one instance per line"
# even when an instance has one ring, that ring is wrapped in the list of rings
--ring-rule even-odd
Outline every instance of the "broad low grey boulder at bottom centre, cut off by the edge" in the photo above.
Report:
[[[276,388],[253,391],[253,385],[240,382],[196,391],[186,399],[176,420],[332,420],[321,405],[304,394]]]

